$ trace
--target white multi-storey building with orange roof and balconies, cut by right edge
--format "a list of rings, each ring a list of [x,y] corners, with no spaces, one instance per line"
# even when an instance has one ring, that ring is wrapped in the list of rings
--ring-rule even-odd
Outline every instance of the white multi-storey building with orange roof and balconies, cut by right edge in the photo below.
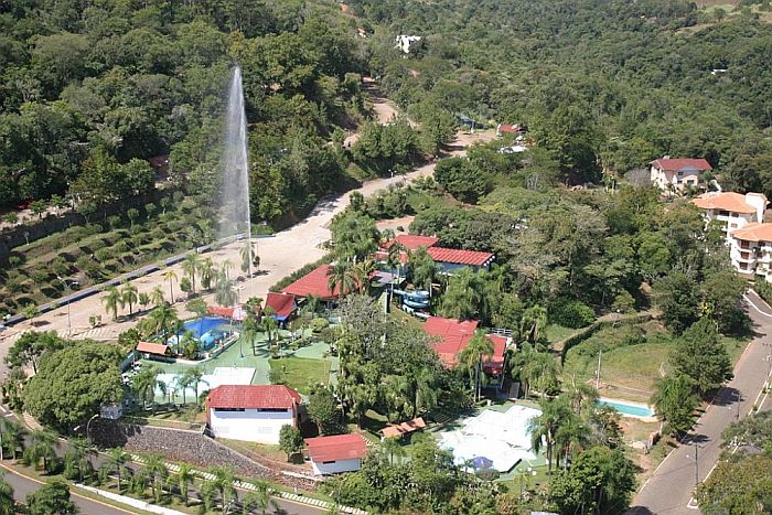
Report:
[[[740,275],[772,282],[772,224],[748,224],[732,230],[729,256]]]

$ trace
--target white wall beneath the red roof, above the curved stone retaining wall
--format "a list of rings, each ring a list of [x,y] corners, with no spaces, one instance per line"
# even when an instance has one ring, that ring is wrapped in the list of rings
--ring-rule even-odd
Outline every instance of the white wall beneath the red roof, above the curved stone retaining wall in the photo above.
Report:
[[[294,411],[216,411],[210,409],[210,427],[217,438],[246,440],[260,443],[279,443],[281,427],[294,425]]]

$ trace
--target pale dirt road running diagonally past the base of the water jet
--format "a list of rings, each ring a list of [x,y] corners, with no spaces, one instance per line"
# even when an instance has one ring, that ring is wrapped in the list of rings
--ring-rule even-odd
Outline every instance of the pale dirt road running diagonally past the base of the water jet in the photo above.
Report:
[[[387,101],[380,105],[388,106],[384,108],[384,116],[388,112],[387,109],[393,109]],[[450,154],[461,155],[465,152],[469,144],[476,141],[489,141],[495,138],[492,132],[479,132],[476,135],[459,133],[457,140],[451,144]],[[364,196],[372,195],[375,191],[387,187],[393,181],[398,180],[412,181],[418,176],[431,175],[435,171],[435,163],[429,163],[417,168],[416,170],[394,179],[376,179],[368,181],[362,187],[354,190],[362,193]],[[349,197],[353,192],[347,192],[337,197],[321,200],[311,214],[303,221],[285,229],[268,238],[257,239],[258,254],[260,256],[261,273],[253,279],[237,285],[239,301],[244,301],[249,297],[261,297],[265,299],[268,289],[279,281],[281,278],[298,270],[304,265],[315,261],[324,255],[321,244],[330,238],[329,225],[332,217],[342,212],[349,205]],[[217,251],[207,253],[215,264],[230,261],[233,265],[233,275],[240,275],[240,257],[239,250],[243,244],[233,244]],[[163,273],[168,270],[173,270],[179,278],[184,276],[180,265],[169,267],[142,278],[132,281],[139,292],[150,292],[157,286],[161,287],[167,299],[170,297],[169,281],[163,279]],[[182,301],[183,293],[174,282],[172,289],[176,300],[176,309],[181,318],[190,318],[193,313],[184,309]],[[73,335],[75,337],[90,337],[95,340],[112,340],[117,339],[118,334],[127,329],[132,328],[138,319],[118,321],[110,320],[110,316],[105,313],[103,299],[106,293],[92,296],[83,300],[73,302],[69,305]],[[210,304],[214,304],[214,294],[205,294],[203,299]],[[90,329],[88,318],[90,315],[101,315],[105,322],[101,326]],[[128,314],[128,310],[119,314]],[[67,308],[58,308],[52,310],[41,316],[34,319],[34,326],[30,321],[21,322],[8,331],[0,333],[0,358],[6,355],[8,347],[17,340],[17,337],[30,329],[37,331],[55,330],[60,334],[67,333]],[[0,361],[0,371],[4,365]]]

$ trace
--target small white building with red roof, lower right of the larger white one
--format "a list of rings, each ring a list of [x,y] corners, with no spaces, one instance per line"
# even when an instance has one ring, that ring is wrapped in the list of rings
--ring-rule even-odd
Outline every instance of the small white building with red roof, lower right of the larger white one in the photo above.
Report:
[[[305,446],[317,475],[354,472],[362,468],[367,446],[362,434],[307,438]]]

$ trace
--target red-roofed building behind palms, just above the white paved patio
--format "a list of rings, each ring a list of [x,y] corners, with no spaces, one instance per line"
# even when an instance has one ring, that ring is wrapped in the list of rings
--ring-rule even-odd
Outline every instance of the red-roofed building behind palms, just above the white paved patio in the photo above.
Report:
[[[455,319],[444,319],[442,316],[429,316],[423,323],[423,331],[440,339],[432,348],[440,358],[440,362],[451,368],[459,364],[459,354],[467,348],[469,342],[474,337],[478,329],[476,320],[459,321]],[[498,375],[504,369],[504,351],[506,350],[506,337],[487,335],[493,342],[493,356],[483,362],[483,369],[489,374]]]

